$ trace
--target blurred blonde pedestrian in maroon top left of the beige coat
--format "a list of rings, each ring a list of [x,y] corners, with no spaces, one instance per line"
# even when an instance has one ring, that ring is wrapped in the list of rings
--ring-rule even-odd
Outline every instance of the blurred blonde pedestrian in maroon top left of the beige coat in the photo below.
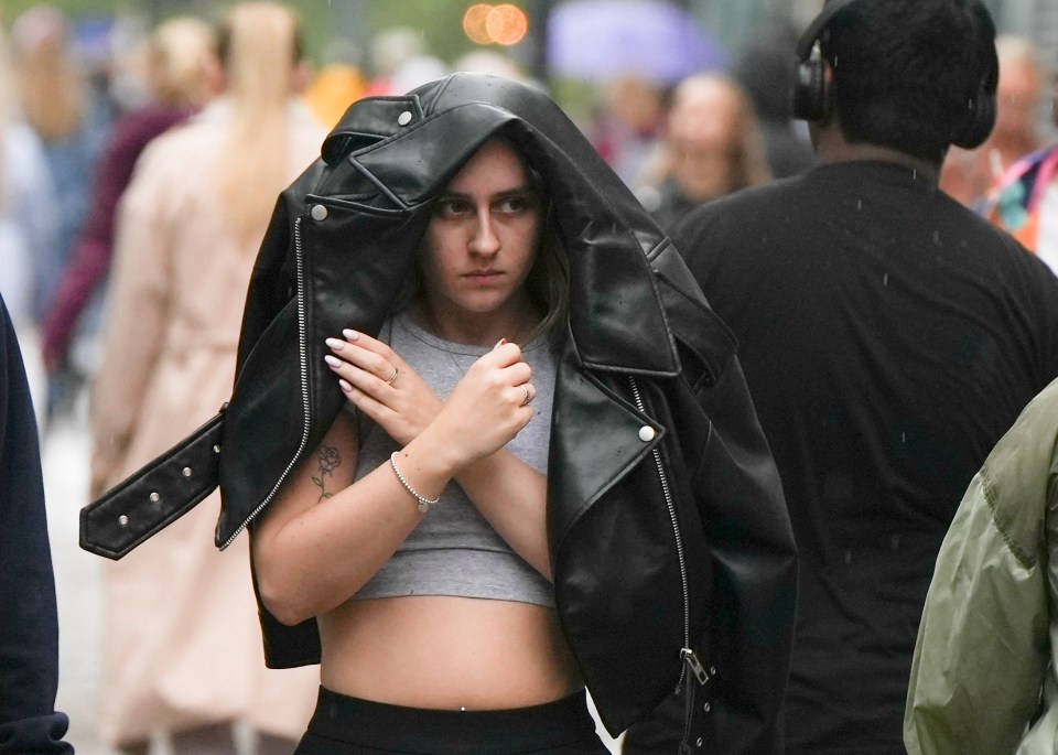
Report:
[[[182,122],[213,96],[217,86],[212,80],[216,71],[210,62],[214,47],[213,29],[194,17],[168,19],[148,39],[148,101],[114,126],[95,173],[88,216],[46,313],[41,345],[50,373],[64,367],[89,304],[104,301],[118,201],[132,177],[140,152],[154,137]]]

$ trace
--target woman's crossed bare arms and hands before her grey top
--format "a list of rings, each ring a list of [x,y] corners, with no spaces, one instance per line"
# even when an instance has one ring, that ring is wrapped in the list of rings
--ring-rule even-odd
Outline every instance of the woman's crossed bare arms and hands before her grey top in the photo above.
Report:
[[[408,483],[435,498],[454,479],[500,537],[550,579],[547,478],[504,447],[532,417],[525,406],[531,369],[519,347],[497,345],[442,402],[387,344],[353,331],[327,344],[327,364],[349,402],[403,446],[397,463]],[[389,381],[395,368],[398,378]],[[344,603],[429,516],[388,463],[355,481],[358,452],[355,421],[341,412],[255,528],[258,586],[281,622]]]

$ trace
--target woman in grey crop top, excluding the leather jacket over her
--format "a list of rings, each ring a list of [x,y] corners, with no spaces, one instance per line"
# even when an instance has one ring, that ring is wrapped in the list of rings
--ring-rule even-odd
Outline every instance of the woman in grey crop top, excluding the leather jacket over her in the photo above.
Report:
[[[544,260],[530,282],[548,254],[544,211],[518,152],[486,142],[438,199],[421,287],[384,327],[390,345],[353,331],[327,342],[366,421],[358,432],[354,414],[338,416],[253,538],[269,610],[288,624],[320,618],[321,710],[363,708],[347,695],[432,711],[547,703],[549,715],[579,713],[577,727],[541,712],[527,719],[536,733],[576,746],[538,748],[607,752],[583,701],[564,702],[583,682],[549,584],[549,335],[563,306],[544,309]],[[395,664],[395,647],[410,656]],[[432,718],[445,714],[409,723]],[[479,718],[476,735],[503,736]],[[302,752],[322,746],[310,732]]]

